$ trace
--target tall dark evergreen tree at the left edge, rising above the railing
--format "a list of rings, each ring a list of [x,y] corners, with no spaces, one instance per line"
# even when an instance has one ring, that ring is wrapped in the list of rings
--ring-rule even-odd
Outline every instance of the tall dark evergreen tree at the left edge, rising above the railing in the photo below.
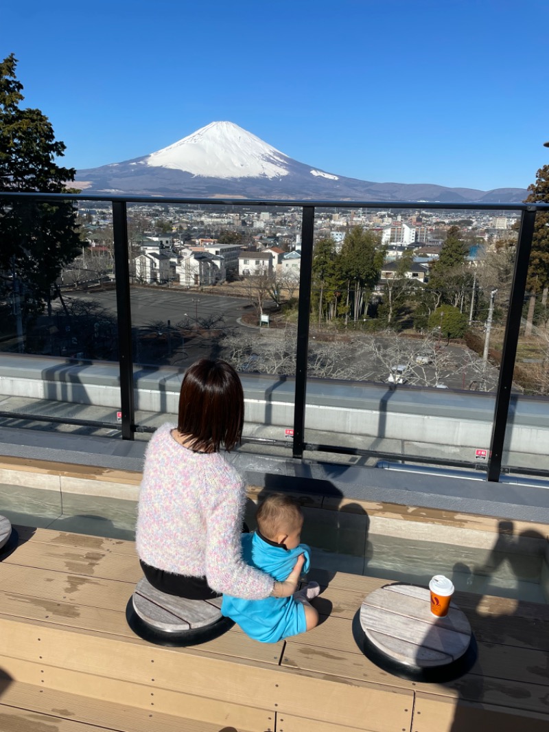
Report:
[[[15,77],[13,54],[0,63],[0,191],[63,193],[74,168],[56,165],[64,143],[56,141],[48,118],[21,109],[23,85]],[[24,318],[50,301],[61,267],[81,252],[76,209],[70,201],[0,201],[0,270],[12,288],[14,310]]]

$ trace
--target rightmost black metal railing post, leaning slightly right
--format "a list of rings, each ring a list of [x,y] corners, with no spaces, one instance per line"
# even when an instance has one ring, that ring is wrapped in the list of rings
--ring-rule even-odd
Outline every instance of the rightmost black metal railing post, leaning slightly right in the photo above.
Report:
[[[490,463],[488,464],[488,480],[490,482],[498,482],[501,473],[501,458],[507,429],[507,417],[509,416],[515,357],[517,355],[520,321],[523,313],[526,277],[530,264],[535,223],[536,209],[532,207],[524,210],[520,219],[515,272],[513,272],[507,324],[505,326],[503,348],[501,349],[496,407],[494,408],[492,438],[490,440]]]

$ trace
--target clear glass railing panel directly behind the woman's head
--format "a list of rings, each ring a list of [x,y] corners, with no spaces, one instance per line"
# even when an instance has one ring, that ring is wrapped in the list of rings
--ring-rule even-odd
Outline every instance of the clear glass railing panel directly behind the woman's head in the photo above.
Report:
[[[129,206],[138,429],[176,419],[184,370],[221,358],[241,374],[244,437],[285,442],[300,223],[299,209],[283,207]]]

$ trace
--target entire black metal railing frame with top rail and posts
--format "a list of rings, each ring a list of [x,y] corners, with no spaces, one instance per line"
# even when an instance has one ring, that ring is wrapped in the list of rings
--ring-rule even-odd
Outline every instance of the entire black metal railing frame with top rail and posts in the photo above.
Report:
[[[131,304],[130,304],[130,271],[128,259],[127,237],[127,204],[173,203],[181,205],[201,206],[240,206],[240,207],[280,207],[302,209],[302,259],[299,279],[299,310],[297,323],[296,343],[296,386],[294,401],[294,436],[292,454],[297,460],[303,458],[305,450],[329,451],[347,455],[377,455],[379,458],[390,457],[389,453],[377,453],[369,450],[350,449],[335,445],[320,445],[305,440],[305,402],[307,390],[307,351],[310,329],[310,299],[313,268],[313,239],[314,220],[317,209],[422,209],[425,211],[514,211],[521,212],[520,231],[518,236],[517,253],[515,255],[515,271],[512,278],[507,324],[504,332],[504,343],[501,352],[498,384],[496,388],[496,405],[493,416],[493,430],[490,440],[490,456],[485,467],[490,482],[498,482],[501,474],[501,457],[509,416],[509,403],[512,391],[512,377],[515,368],[518,337],[520,332],[520,317],[524,296],[526,293],[526,276],[529,267],[532,238],[537,211],[549,211],[548,203],[427,203],[425,201],[272,201],[250,199],[208,199],[208,198],[181,198],[181,197],[149,197],[132,195],[84,195],[60,193],[7,193],[0,192],[2,199],[17,200],[31,199],[34,201],[102,201],[111,202],[113,212],[113,236],[115,251],[116,274],[116,305],[119,337],[119,368],[120,392],[122,405],[122,438],[132,440],[136,431],[135,425],[132,337],[131,337]],[[15,413],[14,413],[15,416]],[[26,417],[29,417],[26,414]],[[33,417],[34,419],[34,417]],[[37,419],[39,419],[37,417]],[[47,418],[43,418],[47,419]],[[57,421],[60,421],[59,418]],[[72,424],[92,425],[89,420],[71,419]],[[276,440],[250,440],[262,444],[285,444]],[[414,456],[393,455],[398,460],[409,462],[433,463],[438,465],[454,465],[450,460],[431,460]],[[507,468],[509,469],[509,468]],[[520,471],[520,468],[513,468]],[[539,471],[524,471],[539,474]]]

